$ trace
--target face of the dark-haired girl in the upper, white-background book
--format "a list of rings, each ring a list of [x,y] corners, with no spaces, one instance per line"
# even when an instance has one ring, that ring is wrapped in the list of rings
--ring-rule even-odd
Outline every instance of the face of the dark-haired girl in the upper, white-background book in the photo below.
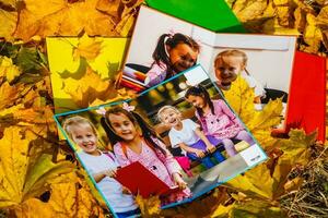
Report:
[[[178,44],[174,48],[168,48],[168,55],[173,70],[179,73],[195,65],[198,51],[192,50],[187,44]]]

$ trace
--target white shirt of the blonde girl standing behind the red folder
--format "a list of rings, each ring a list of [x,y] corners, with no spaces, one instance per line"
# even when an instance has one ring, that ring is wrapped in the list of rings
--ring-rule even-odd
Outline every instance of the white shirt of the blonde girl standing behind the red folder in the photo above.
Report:
[[[115,158],[113,154],[110,155],[113,158]],[[112,159],[103,153],[101,153],[101,156],[93,156],[81,152],[78,153],[78,156],[89,171],[90,175],[98,173],[103,170],[116,169],[119,166],[116,159]],[[138,207],[132,195],[122,193],[122,186],[117,180],[105,177],[103,180],[96,183],[96,186],[115,213],[129,211]]]

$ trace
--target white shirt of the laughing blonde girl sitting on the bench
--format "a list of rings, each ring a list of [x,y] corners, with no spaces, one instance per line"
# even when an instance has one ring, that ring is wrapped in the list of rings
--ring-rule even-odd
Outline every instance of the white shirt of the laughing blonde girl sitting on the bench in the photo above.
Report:
[[[172,147],[178,147],[178,144],[185,143],[186,145],[192,145],[200,138],[196,134],[196,129],[199,125],[190,119],[183,120],[183,129],[176,130],[174,128],[168,132],[168,137]]]

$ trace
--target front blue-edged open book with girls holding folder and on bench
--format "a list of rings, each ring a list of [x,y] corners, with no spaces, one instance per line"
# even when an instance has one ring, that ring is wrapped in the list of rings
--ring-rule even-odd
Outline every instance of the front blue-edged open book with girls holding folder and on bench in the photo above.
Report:
[[[188,203],[267,158],[200,65],[128,102],[56,120],[117,217],[140,214],[138,193],[160,195],[162,208]]]

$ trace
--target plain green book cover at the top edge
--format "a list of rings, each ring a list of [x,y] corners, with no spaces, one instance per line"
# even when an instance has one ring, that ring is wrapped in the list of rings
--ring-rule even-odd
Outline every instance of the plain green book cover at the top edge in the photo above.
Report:
[[[213,32],[246,33],[224,0],[145,0],[150,8]]]

